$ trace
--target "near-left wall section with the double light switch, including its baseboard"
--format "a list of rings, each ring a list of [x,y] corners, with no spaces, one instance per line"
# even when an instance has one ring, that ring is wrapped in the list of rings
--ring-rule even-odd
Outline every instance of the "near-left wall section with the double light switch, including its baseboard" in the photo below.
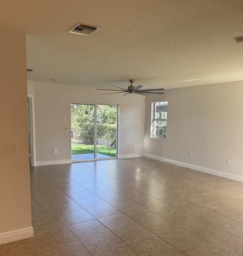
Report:
[[[0,243],[33,236],[25,35],[0,31]],[[19,153],[6,154],[17,143]]]

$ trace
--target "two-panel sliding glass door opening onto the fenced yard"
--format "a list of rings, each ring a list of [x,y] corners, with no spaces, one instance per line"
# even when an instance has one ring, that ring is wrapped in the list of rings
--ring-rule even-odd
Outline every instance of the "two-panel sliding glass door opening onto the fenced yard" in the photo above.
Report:
[[[117,158],[117,108],[71,103],[72,161]]]

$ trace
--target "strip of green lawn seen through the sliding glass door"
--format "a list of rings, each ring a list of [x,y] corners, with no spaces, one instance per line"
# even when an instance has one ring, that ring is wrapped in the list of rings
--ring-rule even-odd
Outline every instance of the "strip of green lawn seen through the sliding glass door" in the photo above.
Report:
[[[94,153],[92,145],[72,145],[72,155]],[[113,147],[103,147],[97,145],[97,153],[106,156],[116,156],[116,149]]]

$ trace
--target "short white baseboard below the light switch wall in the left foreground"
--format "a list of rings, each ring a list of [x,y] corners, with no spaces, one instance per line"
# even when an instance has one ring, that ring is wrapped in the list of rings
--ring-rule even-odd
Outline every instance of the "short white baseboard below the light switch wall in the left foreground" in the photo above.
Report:
[[[0,245],[34,236],[33,227],[17,229],[0,234]]]

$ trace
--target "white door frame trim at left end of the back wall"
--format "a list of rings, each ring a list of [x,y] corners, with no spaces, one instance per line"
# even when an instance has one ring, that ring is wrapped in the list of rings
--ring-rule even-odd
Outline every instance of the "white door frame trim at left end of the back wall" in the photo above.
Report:
[[[30,166],[36,166],[35,104],[34,104],[34,95],[32,94],[28,94],[28,129],[29,129]]]

